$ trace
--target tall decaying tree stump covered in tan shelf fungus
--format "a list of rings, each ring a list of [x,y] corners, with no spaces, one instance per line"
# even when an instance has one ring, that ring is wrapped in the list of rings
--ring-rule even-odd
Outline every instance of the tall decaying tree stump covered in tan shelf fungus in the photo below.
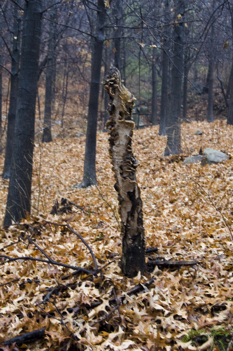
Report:
[[[132,107],[136,98],[123,85],[121,74],[113,67],[103,81],[111,103],[110,119],[106,127],[110,131],[109,156],[115,174],[115,189],[118,193],[119,215],[121,217],[123,274],[134,277],[145,267],[145,229],[143,227],[142,200],[136,179],[139,164],[133,155]]]

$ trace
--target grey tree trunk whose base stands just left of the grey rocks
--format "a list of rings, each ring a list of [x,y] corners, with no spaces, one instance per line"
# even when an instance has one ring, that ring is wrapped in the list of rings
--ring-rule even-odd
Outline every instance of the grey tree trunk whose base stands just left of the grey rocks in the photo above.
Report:
[[[176,1],[175,16],[179,23],[174,26],[173,65],[171,82],[171,102],[167,121],[167,145],[164,155],[178,155],[180,146],[181,88],[183,72],[184,0]],[[182,18],[178,18],[181,15]]]

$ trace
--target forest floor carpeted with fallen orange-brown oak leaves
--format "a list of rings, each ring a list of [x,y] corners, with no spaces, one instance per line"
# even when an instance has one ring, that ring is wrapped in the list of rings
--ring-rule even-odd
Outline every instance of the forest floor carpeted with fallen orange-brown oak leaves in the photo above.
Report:
[[[195,135],[197,130],[203,135]],[[72,133],[79,131],[75,126]],[[140,161],[137,179],[146,247],[158,248],[147,260],[200,263],[156,266],[133,279],[123,277],[119,265],[121,238],[108,134],[97,135],[98,186],[87,189],[75,187],[83,177],[85,136],[55,138],[48,144],[41,144],[40,138],[35,141],[32,215],[24,224],[1,230],[0,254],[45,259],[28,242],[29,236],[54,261],[94,271],[84,243],[67,227],[45,222],[66,224],[69,219],[93,250],[98,268],[108,265],[95,276],[71,276],[70,269],[40,261],[3,264],[0,342],[45,327],[43,338],[20,347],[33,351],[66,350],[71,344],[96,351],[232,350],[233,127],[226,120],[192,121],[181,126],[181,137],[183,154],[173,160],[163,157],[166,138],[158,136],[158,126],[137,130],[133,136]],[[204,167],[183,166],[184,156],[198,154],[200,147],[220,150],[230,159]],[[4,154],[1,169],[3,163]],[[7,189],[8,180],[0,179],[1,221]],[[70,205],[71,213],[50,214],[55,201],[60,203],[62,198],[77,206]],[[6,247],[11,243],[15,244]],[[137,284],[137,291],[131,291]],[[7,351],[18,347],[1,346]]]

